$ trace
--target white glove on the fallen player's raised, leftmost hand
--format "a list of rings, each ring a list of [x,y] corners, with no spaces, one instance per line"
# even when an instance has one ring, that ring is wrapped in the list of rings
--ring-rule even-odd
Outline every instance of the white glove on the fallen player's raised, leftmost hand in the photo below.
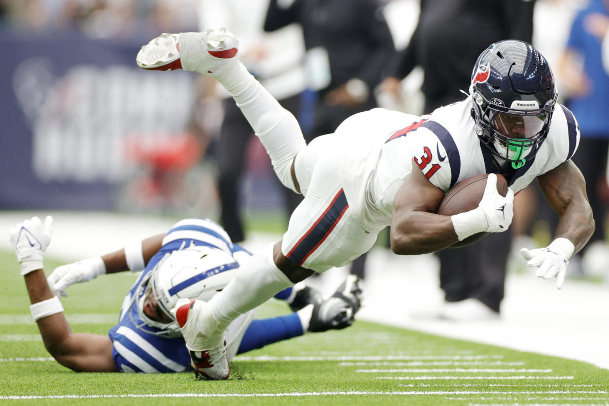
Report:
[[[44,225],[38,217],[32,217],[31,220],[10,228],[9,239],[21,265],[21,275],[42,269],[44,251],[51,242],[52,228],[53,218],[50,215],[44,219]]]

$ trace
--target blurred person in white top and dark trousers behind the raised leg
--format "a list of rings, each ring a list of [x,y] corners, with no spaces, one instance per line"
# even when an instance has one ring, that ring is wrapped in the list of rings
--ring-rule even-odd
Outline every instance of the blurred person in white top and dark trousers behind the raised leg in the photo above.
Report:
[[[298,117],[300,94],[305,89],[302,59],[305,46],[302,30],[296,24],[274,33],[262,30],[268,1],[202,0],[199,28],[227,27],[239,38],[241,61],[256,79],[279,100],[284,108]],[[220,223],[231,240],[245,239],[239,193],[245,167],[245,153],[253,130],[228,92],[214,82],[217,94],[224,99],[224,120],[216,149],[219,170]],[[256,139],[257,141],[257,139]],[[273,176],[279,184],[279,180]],[[281,186],[286,204],[286,220],[300,203],[301,196]]]

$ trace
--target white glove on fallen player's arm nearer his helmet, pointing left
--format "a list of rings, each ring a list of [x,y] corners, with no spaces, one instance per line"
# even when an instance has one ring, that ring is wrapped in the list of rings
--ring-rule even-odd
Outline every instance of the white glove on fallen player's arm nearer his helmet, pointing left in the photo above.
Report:
[[[69,285],[90,281],[104,273],[106,273],[106,265],[102,257],[93,257],[55,268],[47,281],[53,292],[68,296],[65,290]]]

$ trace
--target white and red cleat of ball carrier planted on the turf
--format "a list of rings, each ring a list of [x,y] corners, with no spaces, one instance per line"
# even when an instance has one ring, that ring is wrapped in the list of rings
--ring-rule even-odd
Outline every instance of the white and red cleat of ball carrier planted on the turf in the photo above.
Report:
[[[180,326],[186,348],[190,351],[191,365],[200,379],[228,379],[230,368],[224,335],[205,335],[206,303],[200,300],[180,299],[171,309]]]

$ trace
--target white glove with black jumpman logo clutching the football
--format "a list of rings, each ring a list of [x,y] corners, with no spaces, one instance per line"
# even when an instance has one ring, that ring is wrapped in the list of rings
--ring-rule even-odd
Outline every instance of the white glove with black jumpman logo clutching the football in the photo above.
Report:
[[[508,188],[505,197],[497,191],[497,175],[489,173],[487,186],[480,201],[480,208],[487,218],[488,228],[484,231],[489,233],[502,233],[512,224],[514,217],[514,191]]]

